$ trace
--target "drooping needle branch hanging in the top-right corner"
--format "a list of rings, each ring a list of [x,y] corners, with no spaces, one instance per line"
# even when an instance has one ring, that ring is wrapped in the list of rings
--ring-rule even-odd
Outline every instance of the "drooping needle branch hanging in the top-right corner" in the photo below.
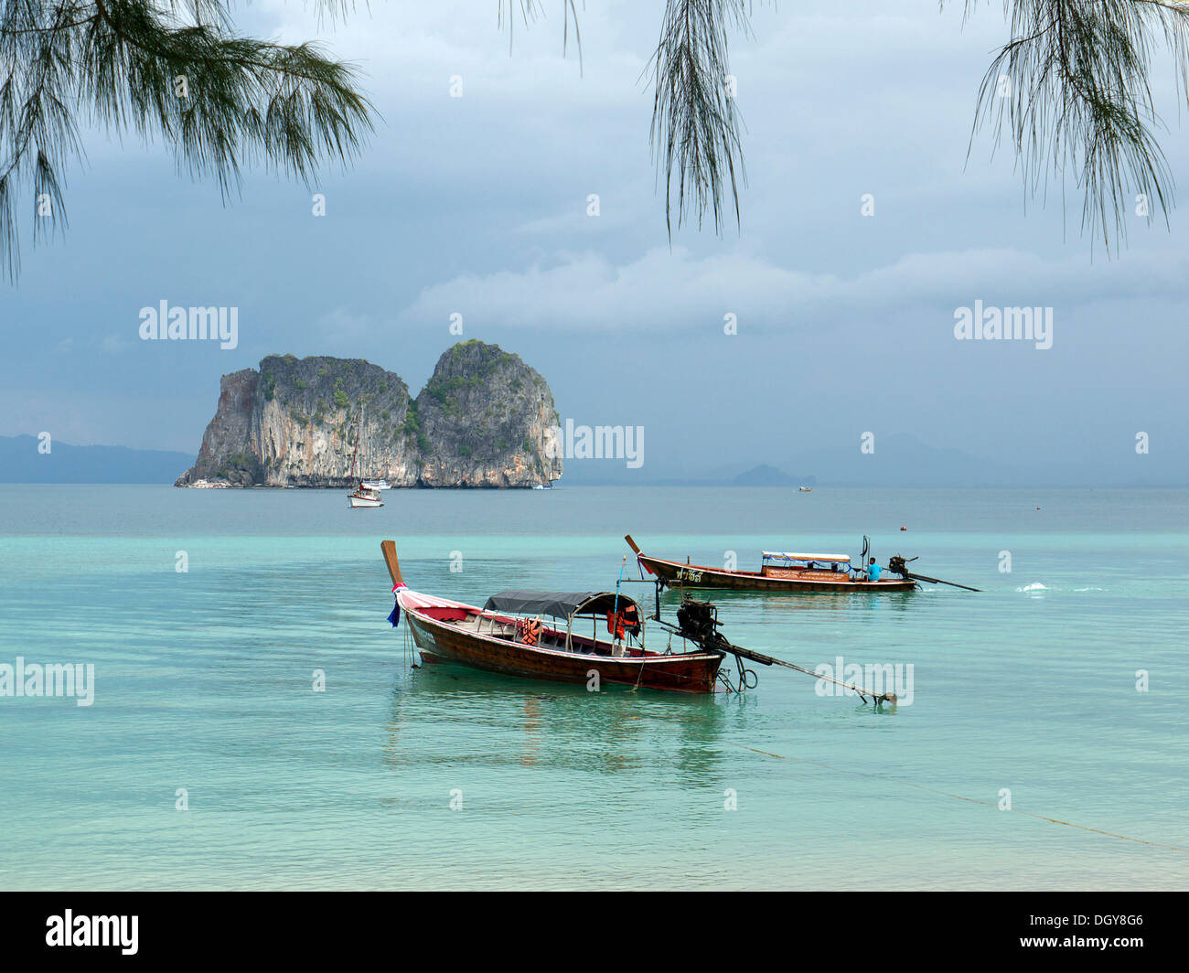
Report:
[[[944,6],[945,0],[942,0]],[[977,0],[965,0],[969,15]],[[1132,196],[1168,224],[1174,184],[1153,130],[1153,50],[1172,54],[1177,96],[1189,101],[1189,5],[1162,0],[1005,0],[1012,39],[979,89],[974,136],[1015,151],[1026,192],[1044,195],[1067,174],[1083,192],[1082,230],[1109,250],[1126,239]]]

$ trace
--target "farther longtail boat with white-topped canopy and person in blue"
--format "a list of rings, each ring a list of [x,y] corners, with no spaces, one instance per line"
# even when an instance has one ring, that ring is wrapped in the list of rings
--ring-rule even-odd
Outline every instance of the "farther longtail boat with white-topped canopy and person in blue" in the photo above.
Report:
[[[866,573],[853,573],[845,554],[798,554],[785,551],[765,551],[759,571],[728,571],[702,564],[681,564],[677,560],[654,558],[640,550],[628,534],[624,540],[636,552],[636,560],[650,575],[669,588],[723,588],[736,591],[833,591],[891,592],[912,591],[917,582],[911,577],[881,577],[868,580]]]

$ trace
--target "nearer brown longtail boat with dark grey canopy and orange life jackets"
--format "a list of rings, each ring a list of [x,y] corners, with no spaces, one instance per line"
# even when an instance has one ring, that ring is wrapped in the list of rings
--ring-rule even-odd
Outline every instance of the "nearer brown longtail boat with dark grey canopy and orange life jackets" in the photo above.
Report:
[[[396,545],[380,542],[396,608],[423,661],[561,683],[619,683],[677,692],[713,692],[724,654],[652,652],[640,605],[615,591],[502,591],[483,608],[409,590]],[[590,634],[585,622],[590,621]],[[575,630],[581,623],[583,632]],[[603,626],[605,635],[600,636]]]

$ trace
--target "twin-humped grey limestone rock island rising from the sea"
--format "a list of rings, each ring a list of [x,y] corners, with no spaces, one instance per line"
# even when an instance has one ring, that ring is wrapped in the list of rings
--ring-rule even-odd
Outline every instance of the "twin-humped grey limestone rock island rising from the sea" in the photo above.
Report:
[[[466,341],[416,398],[358,358],[269,356],[225,375],[194,466],[177,479],[237,486],[531,486],[561,476],[545,379],[497,345]],[[354,460],[354,464],[353,464]]]

